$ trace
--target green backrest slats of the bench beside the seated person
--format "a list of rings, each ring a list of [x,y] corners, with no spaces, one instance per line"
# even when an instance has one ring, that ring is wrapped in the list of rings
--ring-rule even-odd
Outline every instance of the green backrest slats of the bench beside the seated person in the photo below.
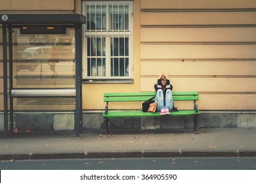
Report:
[[[155,95],[156,92],[104,93],[104,102],[146,101]],[[198,92],[173,92],[174,101],[194,101],[198,99]]]

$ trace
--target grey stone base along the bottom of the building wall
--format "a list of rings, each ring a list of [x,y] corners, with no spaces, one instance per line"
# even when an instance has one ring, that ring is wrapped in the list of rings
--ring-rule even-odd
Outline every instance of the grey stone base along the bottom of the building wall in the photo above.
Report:
[[[197,116],[199,128],[256,127],[256,112],[202,112]],[[110,129],[193,129],[194,116],[110,118]],[[83,129],[104,129],[102,112],[83,112]],[[73,112],[17,112],[14,128],[20,130],[72,130]],[[0,113],[0,131],[4,129]]]

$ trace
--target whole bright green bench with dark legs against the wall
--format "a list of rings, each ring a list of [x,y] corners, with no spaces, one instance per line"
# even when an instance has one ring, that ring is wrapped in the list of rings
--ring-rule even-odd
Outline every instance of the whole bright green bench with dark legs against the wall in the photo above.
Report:
[[[132,101],[146,101],[156,95],[156,92],[137,92],[137,93],[104,93],[104,102],[106,102],[105,112],[102,116],[106,118],[106,134],[108,134],[108,118],[122,118],[122,117],[158,117],[160,112],[142,112],[142,110],[110,110],[108,104],[110,102],[132,102]],[[193,101],[194,109],[181,110],[178,108],[177,112],[170,112],[168,116],[189,116],[200,114],[198,110],[198,92],[173,92],[173,101]],[[194,119],[194,130],[197,131],[196,115]]]

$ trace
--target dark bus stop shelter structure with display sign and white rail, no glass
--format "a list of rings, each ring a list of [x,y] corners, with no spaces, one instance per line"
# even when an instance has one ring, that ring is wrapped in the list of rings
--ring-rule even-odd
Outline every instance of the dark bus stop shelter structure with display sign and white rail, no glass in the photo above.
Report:
[[[74,97],[75,135],[82,133],[82,91],[81,91],[81,25],[85,24],[81,14],[0,14],[3,29],[3,112],[4,136],[13,135],[14,97]],[[26,25],[26,26],[25,26]],[[66,27],[75,29],[75,87],[74,88],[32,88],[30,90],[13,88],[12,75],[12,29],[19,27],[27,33],[61,33]],[[45,29],[45,27],[47,27]],[[45,29],[45,30],[44,30]],[[1,36],[1,35],[0,35]],[[9,42],[7,42],[7,39]],[[8,70],[7,70],[8,69]],[[9,106],[8,106],[9,105]],[[10,115],[9,115],[10,114]],[[9,119],[10,118],[10,119]]]

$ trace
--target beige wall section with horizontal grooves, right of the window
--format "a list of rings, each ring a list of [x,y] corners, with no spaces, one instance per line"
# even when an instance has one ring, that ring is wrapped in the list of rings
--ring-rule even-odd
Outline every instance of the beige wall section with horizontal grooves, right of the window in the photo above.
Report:
[[[256,109],[256,1],[141,0],[141,86],[167,73],[202,110]],[[177,103],[178,108],[184,103]]]

